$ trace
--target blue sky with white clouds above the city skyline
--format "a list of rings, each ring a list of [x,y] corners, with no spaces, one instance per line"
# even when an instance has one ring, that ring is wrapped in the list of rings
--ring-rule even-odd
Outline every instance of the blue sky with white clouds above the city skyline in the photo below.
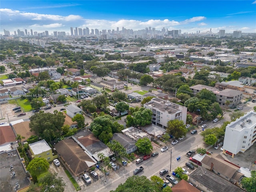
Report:
[[[70,27],[141,30],[181,29],[195,33],[256,32],[256,0],[1,0],[0,33],[33,29],[70,33]]]

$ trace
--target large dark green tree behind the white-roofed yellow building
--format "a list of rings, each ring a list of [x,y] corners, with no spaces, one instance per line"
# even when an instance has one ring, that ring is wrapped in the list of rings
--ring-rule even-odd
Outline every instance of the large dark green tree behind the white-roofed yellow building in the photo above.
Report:
[[[60,137],[64,121],[62,112],[37,113],[30,117],[29,127],[30,131],[34,131],[41,138],[52,141]]]

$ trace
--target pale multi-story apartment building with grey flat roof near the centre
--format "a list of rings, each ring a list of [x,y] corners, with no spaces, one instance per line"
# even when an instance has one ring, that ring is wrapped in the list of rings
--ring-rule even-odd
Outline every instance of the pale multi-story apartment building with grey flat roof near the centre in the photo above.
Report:
[[[144,104],[144,108],[153,112],[152,123],[162,128],[167,127],[170,120],[182,120],[186,124],[187,108],[160,98],[152,98],[152,100]]]

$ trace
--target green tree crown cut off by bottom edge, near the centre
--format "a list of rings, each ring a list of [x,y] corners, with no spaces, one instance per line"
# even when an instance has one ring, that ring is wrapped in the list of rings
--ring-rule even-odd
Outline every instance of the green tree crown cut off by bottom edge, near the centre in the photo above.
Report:
[[[110,192],[155,192],[155,186],[146,176],[134,175]]]

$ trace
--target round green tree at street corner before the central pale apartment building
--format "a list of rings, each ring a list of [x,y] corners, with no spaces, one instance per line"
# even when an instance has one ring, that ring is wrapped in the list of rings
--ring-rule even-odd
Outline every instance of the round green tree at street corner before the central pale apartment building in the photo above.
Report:
[[[187,133],[184,122],[178,119],[168,121],[166,131],[175,138],[180,138]]]

